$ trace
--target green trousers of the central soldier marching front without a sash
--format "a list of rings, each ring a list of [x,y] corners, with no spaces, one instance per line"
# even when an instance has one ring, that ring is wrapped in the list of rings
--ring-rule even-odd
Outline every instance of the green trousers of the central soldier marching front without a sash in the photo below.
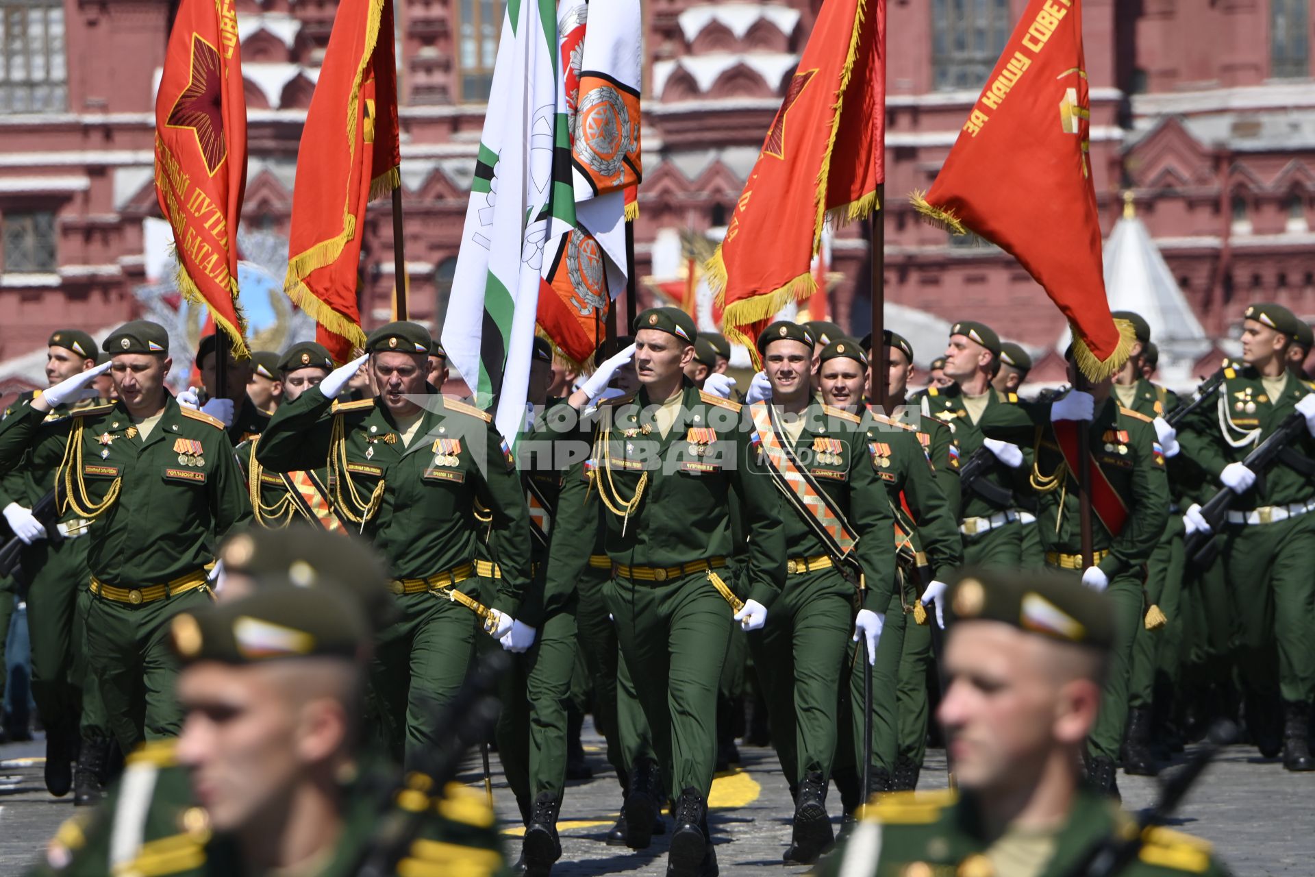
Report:
[[[717,690],[731,609],[704,572],[663,582],[613,579],[608,607],[668,790],[705,798],[717,763]]]

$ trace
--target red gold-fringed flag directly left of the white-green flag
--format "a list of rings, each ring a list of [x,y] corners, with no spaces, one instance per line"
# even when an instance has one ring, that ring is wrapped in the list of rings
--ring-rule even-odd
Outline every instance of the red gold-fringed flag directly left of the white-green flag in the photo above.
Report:
[[[372,197],[401,185],[392,0],[343,0],[306,112],[284,288],[346,362],[360,327],[360,234]]]

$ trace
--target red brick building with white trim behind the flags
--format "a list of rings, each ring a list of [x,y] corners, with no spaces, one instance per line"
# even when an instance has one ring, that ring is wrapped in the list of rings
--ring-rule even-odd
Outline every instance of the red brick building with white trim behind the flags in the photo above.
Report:
[[[412,314],[441,320],[500,30],[498,0],[394,0]],[[679,279],[682,231],[722,226],[819,0],[647,0],[642,302]],[[919,222],[902,195],[935,176],[1024,0],[890,0],[886,300],[927,335],[974,316],[1052,346],[1063,318],[1003,254]],[[0,393],[41,383],[57,326],[146,313],[143,220],[154,83],[176,0],[0,0]],[[250,171],[243,224],[285,234],[296,151],[337,5],[239,0]],[[1086,0],[1091,162],[1106,231],[1137,216],[1212,334],[1243,301],[1315,314],[1310,0]],[[1038,193],[1040,196],[1040,193]],[[869,320],[861,229],[835,241],[832,310]],[[363,313],[389,318],[387,202],[366,227]],[[669,285],[669,284],[668,284]],[[159,289],[155,289],[159,298]],[[167,298],[167,296],[166,296]],[[910,330],[911,331],[911,330]],[[271,337],[276,341],[275,337]],[[923,350],[926,348],[926,350]]]

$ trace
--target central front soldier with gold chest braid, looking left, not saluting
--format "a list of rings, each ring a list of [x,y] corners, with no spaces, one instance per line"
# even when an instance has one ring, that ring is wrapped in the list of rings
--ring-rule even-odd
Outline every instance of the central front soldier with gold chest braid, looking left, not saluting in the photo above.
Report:
[[[626,663],[644,671],[635,675],[635,688],[672,776],[668,788],[680,790],[668,856],[676,877],[715,873],[707,793],[717,757],[717,684],[732,621],[726,604],[740,600],[715,585],[732,552],[732,496],[746,504],[753,543],[747,600],[734,613],[744,630],[767,621],[785,571],[778,497],[742,429],[740,406],[700,393],[684,376],[696,339],[693,318],[676,308],[636,317],[640,389],[600,410],[596,465],[577,465],[567,476],[569,484],[592,472],[590,496],[608,510],[614,576],[608,605]],[[586,555],[580,546],[577,556]]]

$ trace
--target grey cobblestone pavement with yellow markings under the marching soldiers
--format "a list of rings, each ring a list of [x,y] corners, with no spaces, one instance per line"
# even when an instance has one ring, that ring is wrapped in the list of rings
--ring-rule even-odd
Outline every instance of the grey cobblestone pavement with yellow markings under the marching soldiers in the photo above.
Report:
[[[585,735],[594,777],[567,789],[560,824],[563,860],[554,873],[664,874],[665,836],[654,838],[654,845],[643,852],[604,843],[617,817],[621,790],[597,748],[601,742],[588,726]],[[51,798],[45,792],[39,759],[43,751],[41,742],[0,746],[0,877],[21,874],[72,813],[68,798]],[[772,751],[740,747],[740,753],[743,764],[718,776],[713,786],[711,824],[723,873],[803,873],[801,866],[780,864],[790,835],[790,798]],[[944,788],[944,765],[943,751],[930,751],[920,788]],[[513,824],[515,803],[496,756],[493,770],[498,814]],[[476,759],[467,763],[460,778],[480,785]],[[1120,776],[1119,788],[1130,810],[1147,807],[1155,798],[1153,780]],[[834,792],[828,803],[832,811],[839,809]],[[1232,747],[1187,797],[1174,826],[1214,841],[1237,877],[1310,876],[1315,874],[1312,814],[1315,774],[1287,773],[1277,761],[1261,760],[1251,747]],[[514,836],[509,841],[514,851]]]

